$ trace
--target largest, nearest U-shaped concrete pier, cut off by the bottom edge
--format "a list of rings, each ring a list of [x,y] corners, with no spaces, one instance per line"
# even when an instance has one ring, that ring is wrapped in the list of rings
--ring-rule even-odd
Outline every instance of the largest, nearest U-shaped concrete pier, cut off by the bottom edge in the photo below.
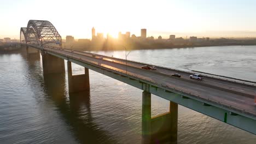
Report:
[[[177,143],[178,104],[170,101],[170,112],[151,117],[151,94],[142,93],[142,143]]]

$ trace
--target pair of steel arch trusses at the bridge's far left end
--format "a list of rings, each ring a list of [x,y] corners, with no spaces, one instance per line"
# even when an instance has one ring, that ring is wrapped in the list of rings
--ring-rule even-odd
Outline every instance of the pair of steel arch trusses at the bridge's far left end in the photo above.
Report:
[[[20,41],[39,46],[52,45],[62,47],[61,35],[49,21],[30,20],[26,28],[20,29]]]

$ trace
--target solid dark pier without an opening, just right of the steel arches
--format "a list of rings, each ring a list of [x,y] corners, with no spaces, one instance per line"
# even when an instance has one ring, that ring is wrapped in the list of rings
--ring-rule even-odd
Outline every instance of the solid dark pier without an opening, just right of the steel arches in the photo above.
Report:
[[[64,59],[41,52],[44,74],[65,73]]]

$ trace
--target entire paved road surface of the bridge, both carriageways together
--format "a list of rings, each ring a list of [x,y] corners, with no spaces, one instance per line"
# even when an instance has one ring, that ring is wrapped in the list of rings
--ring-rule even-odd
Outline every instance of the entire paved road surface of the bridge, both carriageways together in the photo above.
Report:
[[[177,73],[177,71],[167,70],[158,68],[158,70],[145,70],[141,69],[141,66],[144,64],[139,65],[135,62],[129,62],[126,63],[123,62],[123,60],[116,61],[116,59],[113,59],[113,61],[110,61],[109,58],[101,59],[100,55],[96,55],[96,57],[93,57],[93,53],[84,53],[79,51],[71,51],[67,49],[53,49],[45,47],[45,50],[53,51],[55,53],[58,53],[62,56],[68,56],[80,59],[80,61],[90,62],[97,65],[101,65],[101,67],[106,67],[114,70],[122,71],[123,73],[126,73],[126,67],[127,67],[127,73],[131,75],[136,75],[144,80],[150,80],[154,81],[155,83],[158,83],[159,85],[164,85],[176,89],[182,89],[184,92],[200,95],[200,97],[203,98],[209,98],[212,100],[219,101],[220,103],[225,104],[226,106],[232,106],[237,107],[238,109],[245,110],[249,112],[252,116],[256,117],[256,105],[254,105],[254,98],[252,97],[246,97],[241,94],[236,94],[236,92],[232,92],[235,89],[231,87],[239,88],[239,91],[242,93],[249,93],[256,95],[255,88],[253,87],[246,87],[240,85],[240,83],[229,83],[224,81],[218,81],[214,80],[212,83],[213,85],[219,85],[219,87],[226,87],[230,88],[229,91],[225,91],[225,89],[218,89],[218,88],[212,88],[208,86],[204,86],[201,84],[198,84],[198,82],[210,82],[211,80],[203,80],[203,81],[197,81],[197,80],[191,80],[189,79],[189,74],[183,74],[179,73],[184,77],[183,79],[188,79],[189,81],[179,79],[177,77],[168,76],[166,74],[174,74]],[[137,67],[139,65],[139,67]],[[166,74],[162,74],[166,73]],[[186,78],[188,77],[188,78]],[[194,82],[196,81],[196,82]],[[210,82],[211,83],[211,82]]]

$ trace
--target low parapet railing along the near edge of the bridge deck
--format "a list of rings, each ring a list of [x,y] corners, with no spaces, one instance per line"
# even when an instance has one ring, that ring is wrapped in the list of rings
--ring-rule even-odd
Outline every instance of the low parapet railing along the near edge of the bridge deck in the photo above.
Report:
[[[48,48],[54,49],[54,50],[50,50],[50,52],[53,52],[53,53],[56,53],[56,50],[58,50],[58,51],[61,50],[60,48],[56,48],[56,47],[48,47]],[[65,52],[67,52],[67,51],[65,51]],[[56,53],[56,54],[60,55],[60,53]],[[208,101],[212,104],[216,104],[216,105],[218,105],[217,107],[219,107],[219,106],[226,107],[227,109],[234,110],[235,112],[238,111],[238,112],[241,112],[241,113],[245,113],[246,115],[256,117],[256,115],[254,113],[252,113],[250,111],[247,111],[245,109],[241,109],[240,107],[231,106],[231,105],[222,103],[222,101],[217,101],[217,100],[214,100],[214,99],[209,98],[209,97],[202,97],[202,96],[197,95],[197,94],[193,94],[193,93],[190,93],[190,92],[183,91],[182,89],[169,87],[168,85],[165,85],[164,83],[157,83],[157,82],[153,81],[152,79],[147,79],[147,77],[141,77],[140,75],[132,74],[130,72],[126,73],[126,71],[124,71],[124,70],[117,70],[117,69],[113,69],[111,67],[103,67],[101,65],[98,65],[97,62],[92,63],[92,62],[89,62],[89,61],[84,61],[82,58],[79,58],[79,57],[78,58],[75,57],[75,56],[70,57],[70,56],[65,55],[63,53],[61,53],[61,55],[66,56],[67,58],[75,59],[75,60],[80,61],[80,62],[86,62],[90,65],[94,65],[95,67],[98,67],[98,68],[101,68],[101,69],[106,69],[108,71],[112,71],[113,73],[117,73],[117,74],[120,74],[120,75],[123,75],[123,76],[126,76],[126,77],[128,77],[128,75],[129,75],[132,79],[137,79],[138,81],[142,81],[142,82],[145,82],[145,83],[150,83],[150,85],[153,85],[153,86],[162,87],[163,89],[166,89],[167,91],[171,91],[173,93],[178,93],[178,94],[183,95],[185,97],[188,97],[188,96],[189,97],[194,97],[194,98],[197,98],[197,99],[201,99],[203,101]],[[77,54],[77,55],[81,55],[81,54]],[[201,101],[201,102],[203,103],[203,101]]]

